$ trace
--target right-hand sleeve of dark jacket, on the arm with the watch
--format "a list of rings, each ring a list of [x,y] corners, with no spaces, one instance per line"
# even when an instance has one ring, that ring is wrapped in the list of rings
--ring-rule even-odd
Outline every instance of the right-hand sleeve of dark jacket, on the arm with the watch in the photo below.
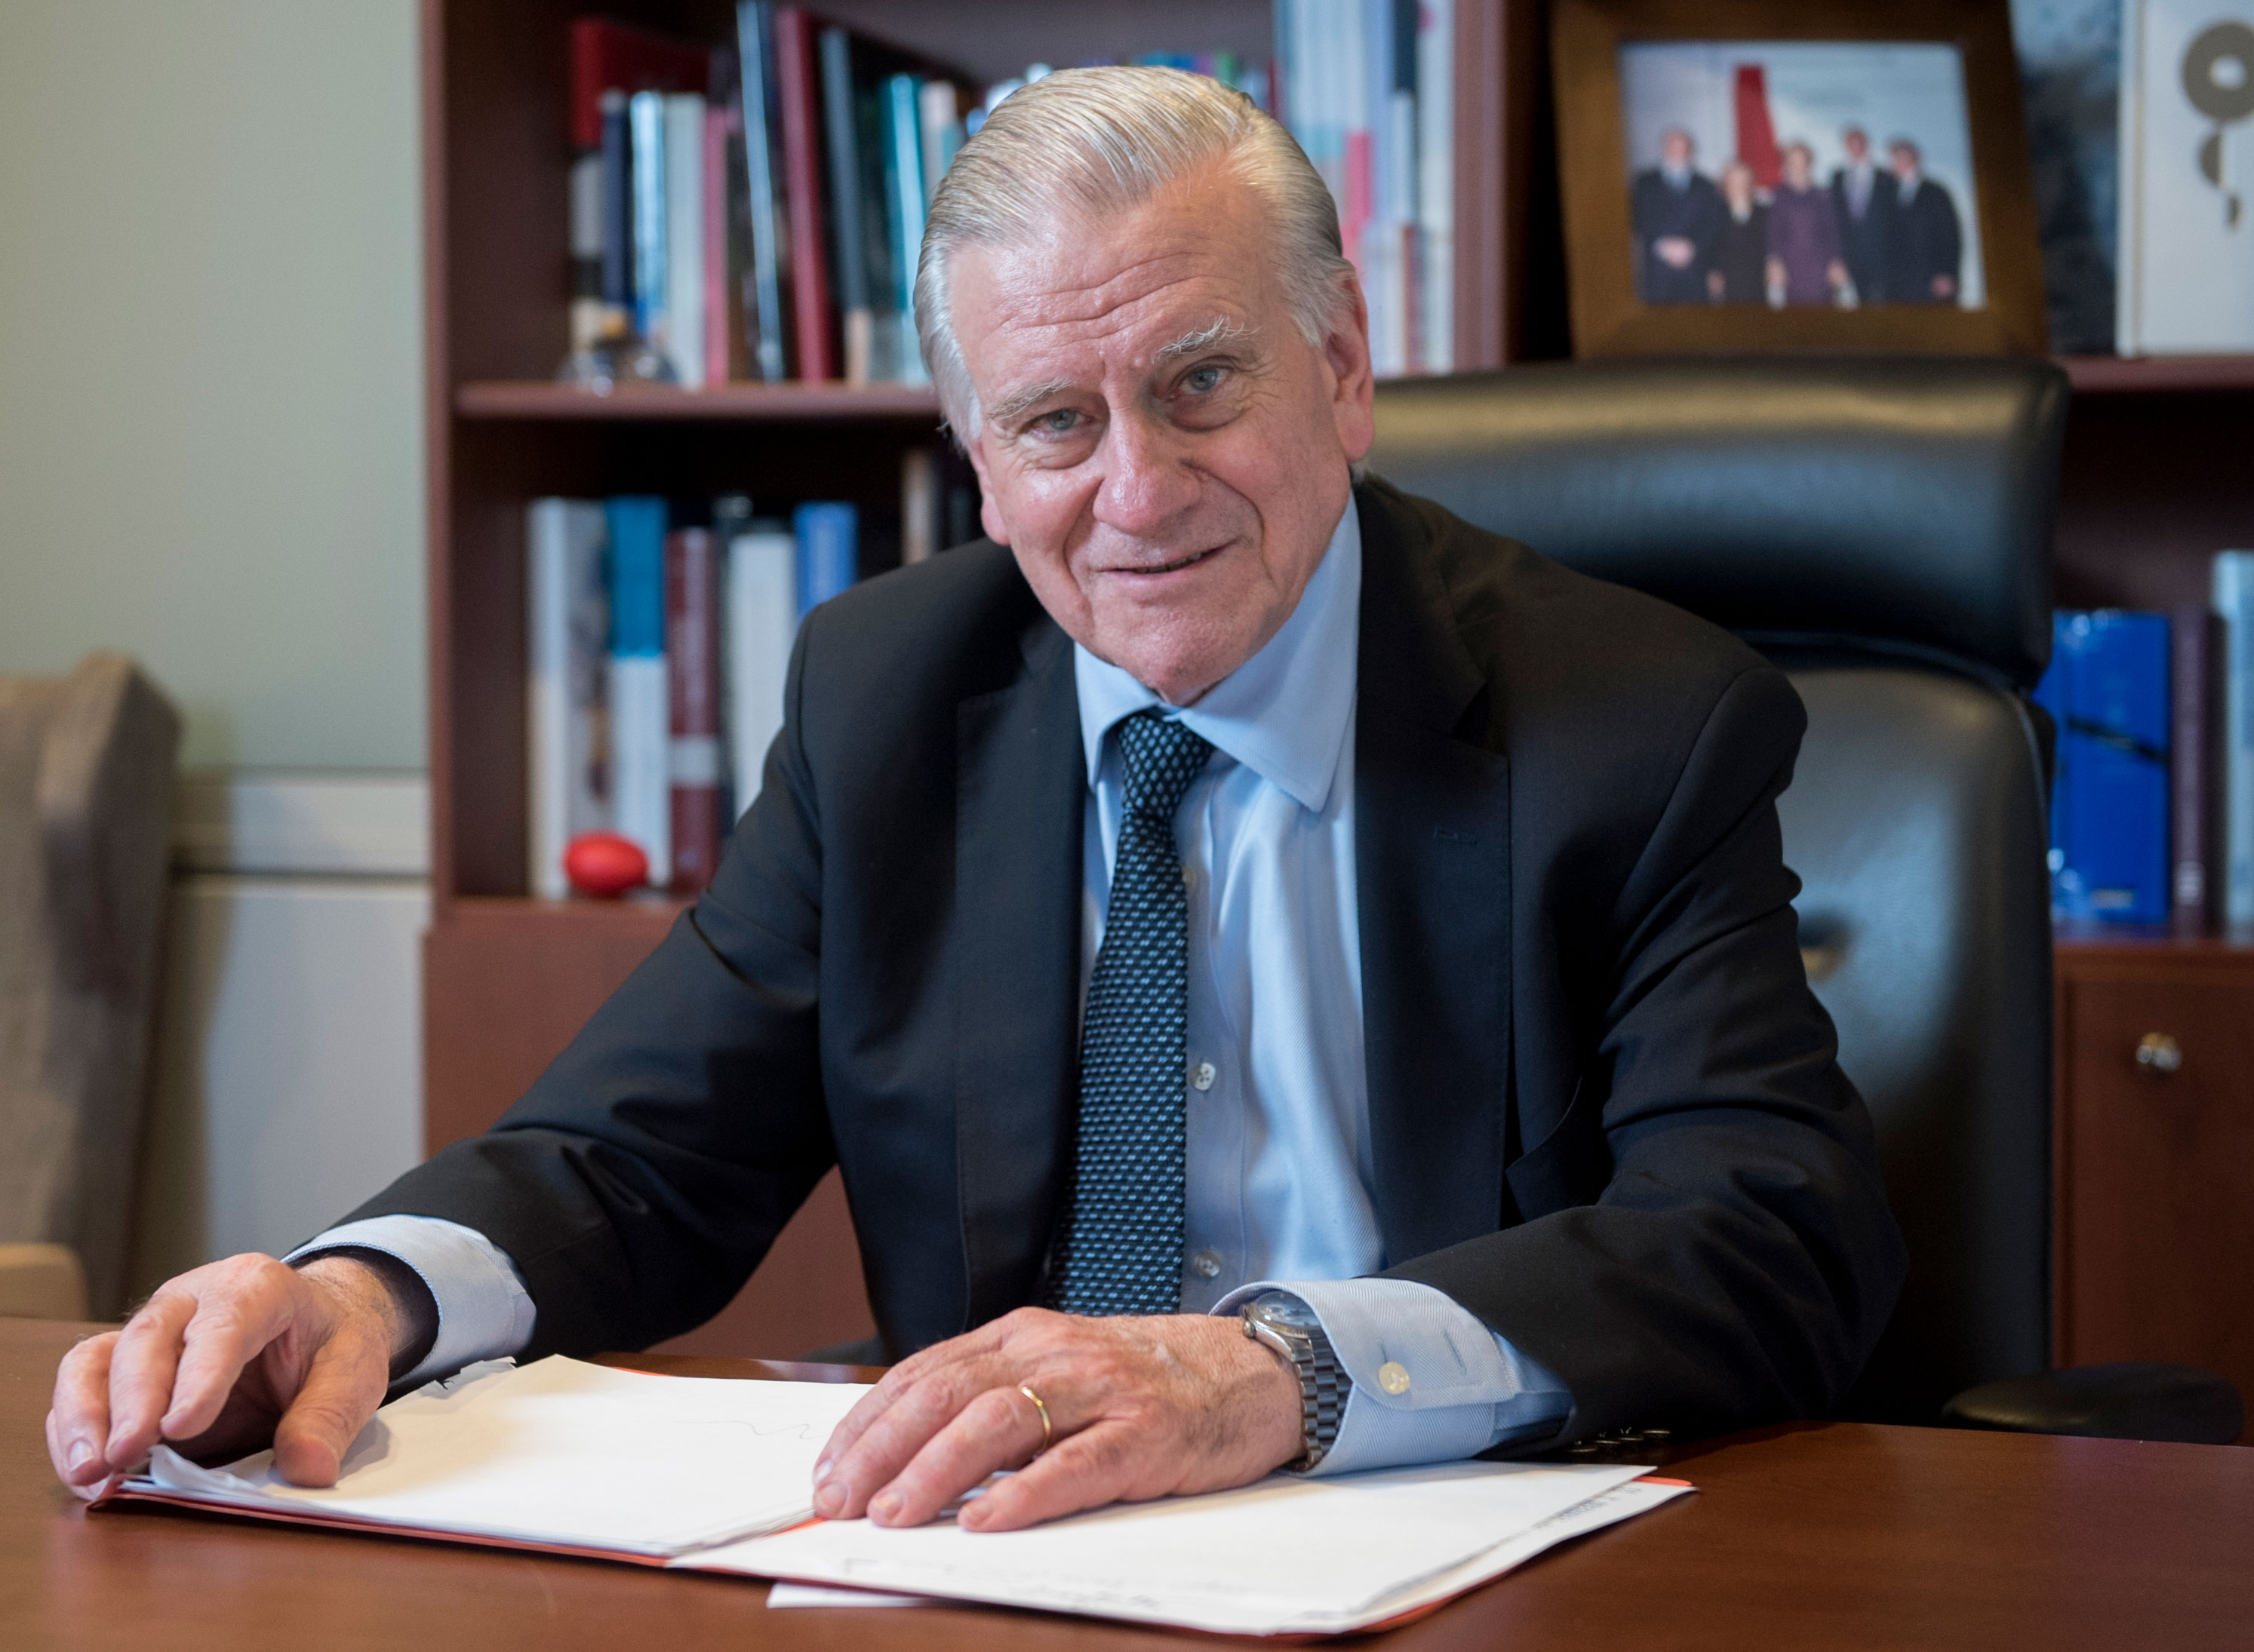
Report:
[[[1391,1271],[1564,1382],[1555,1438],[1819,1415],[1893,1312],[1902,1240],[1776,820],[1803,726],[1772,667],[1720,694],[1614,902],[1573,1102],[1508,1172],[1524,1219]]]

